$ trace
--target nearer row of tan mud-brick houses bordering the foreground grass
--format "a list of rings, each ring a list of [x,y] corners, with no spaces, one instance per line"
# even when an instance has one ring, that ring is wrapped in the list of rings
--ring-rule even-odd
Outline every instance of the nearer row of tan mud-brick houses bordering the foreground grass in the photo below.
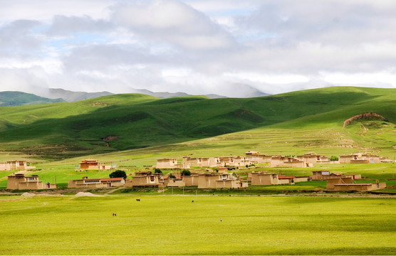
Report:
[[[269,174],[266,171],[252,171],[247,179],[236,177],[227,172],[225,167],[218,171],[192,174],[170,178],[162,173],[151,171],[136,172],[130,178],[88,178],[68,181],[68,188],[110,188],[123,186],[125,188],[166,188],[166,187],[197,187],[197,188],[247,188],[261,185],[284,185],[303,181],[327,181],[326,188],[333,191],[370,191],[385,188],[386,183],[356,183],[361,178],[360,174],[330,174],[329,171],[313,171],[312,176],[283,176]],[[35,190],[56,188],[56,184],[43,183],[38,176],[24,176],[24,174],[12,174],[8,176],[8,189]]]

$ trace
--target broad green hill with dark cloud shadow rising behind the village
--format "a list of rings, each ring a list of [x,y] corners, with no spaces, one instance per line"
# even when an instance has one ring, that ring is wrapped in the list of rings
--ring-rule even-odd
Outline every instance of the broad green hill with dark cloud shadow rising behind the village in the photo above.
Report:
[[[248,99],[127,94],[0,110],[1,149],[43,159],[125,150],[391,155],[396,146],[395,89],[328,87]],[[358,120],[343,128],[345,119],[363,112],[387,121]],[[366,121],[370,128],[362,133]]]

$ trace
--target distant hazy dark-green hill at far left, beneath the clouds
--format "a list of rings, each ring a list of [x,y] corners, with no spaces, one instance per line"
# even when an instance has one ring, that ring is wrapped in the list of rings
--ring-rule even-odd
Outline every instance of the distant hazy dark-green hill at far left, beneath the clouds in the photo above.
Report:
[[[62,99],[47,99],[26,92],[0,92],[0,107],[23,105],[38,105],[53,102],[63,102]]]

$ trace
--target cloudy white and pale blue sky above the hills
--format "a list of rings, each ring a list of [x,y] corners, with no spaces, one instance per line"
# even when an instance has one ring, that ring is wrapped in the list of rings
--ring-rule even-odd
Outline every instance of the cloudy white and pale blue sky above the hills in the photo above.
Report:
[[[396,88],[394,0],[1,0],[0,91]]]

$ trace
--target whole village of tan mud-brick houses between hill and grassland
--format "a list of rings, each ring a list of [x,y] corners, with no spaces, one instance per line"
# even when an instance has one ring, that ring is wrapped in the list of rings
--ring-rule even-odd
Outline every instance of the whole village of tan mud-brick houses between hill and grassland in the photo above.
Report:
[[[132,178],[88,178],[68,181],[68,188],[184,188],[198,189],[244,189],[249,186],[293,185],[306,181],[326,181],[328,191],[372,191],[386,188],[386,183],[356,182],[362,178],[360,174],[337,174],[330,171],[312,171],[311,176],[286,176],[268,173],[267,171],[248,171],[247,175],[239,175],[234,170],[249,168],[255,165],[271,167],[309,168],[315,164],[377,164],[391,162],[385,157],[372,154],[341,155],[338,160],[330,160],[328,156],[314,153],[298,156],[280,156],[261,154],[259,151],[247,151],[245,156],[219,157],[182,157],[157,159],[157,164],[150,170],[135,171]],[[55,183],[43,183],[37,175],[25,176],[26,171],[34,170],[26,161],[7,161],[0,163],[1,171],[15,170],[8,176],[9,190],[40,190],[57,188]],[[115,166],[105,165],[95,159],[80,161],[75,171],[114,170]],[[147,168],[146,168],[147,169]],[[162,170],[169,171],[163,174]],[[183,170],[183,171],[182,171]]]

